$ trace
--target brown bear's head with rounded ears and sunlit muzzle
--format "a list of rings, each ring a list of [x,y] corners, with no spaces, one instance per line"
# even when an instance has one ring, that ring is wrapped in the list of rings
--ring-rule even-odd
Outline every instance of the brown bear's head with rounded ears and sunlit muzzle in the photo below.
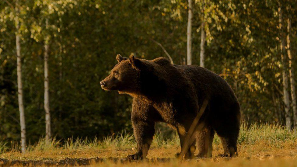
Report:
[[[100,82],[104,90],[118,90],[120,93],[137,92],[141,60],[131,55],[129,58],[117,55],[118,63],[105,79]]]

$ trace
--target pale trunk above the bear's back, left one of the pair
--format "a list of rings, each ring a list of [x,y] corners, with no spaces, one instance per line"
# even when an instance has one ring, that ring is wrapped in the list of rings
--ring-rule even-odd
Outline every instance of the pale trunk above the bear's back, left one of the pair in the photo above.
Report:
[[[188,0],[187,65],[192,65],[192,0]]]

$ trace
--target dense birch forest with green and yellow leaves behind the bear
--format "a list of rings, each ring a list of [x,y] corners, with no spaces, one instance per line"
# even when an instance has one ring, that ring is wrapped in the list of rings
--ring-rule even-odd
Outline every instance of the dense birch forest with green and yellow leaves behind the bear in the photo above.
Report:
[[[132,98],[99,83],[117,54],[205,67],[247,126],[293,130],[296,25],[296,1],[1,0],[0,141],[132,132]]]

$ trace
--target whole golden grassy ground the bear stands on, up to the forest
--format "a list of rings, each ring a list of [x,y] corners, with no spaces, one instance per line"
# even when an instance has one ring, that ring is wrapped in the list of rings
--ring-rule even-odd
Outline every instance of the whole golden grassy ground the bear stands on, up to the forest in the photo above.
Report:
[[[180,161],[174,154],[180,151],[176,134],[165,137],[158,132],[149,150],[148,159],[126,162],[127,155],[135,152],[135,141],[131,134],[104,137],[102,140],[88,138],[68,138],[65,141],[40,139],[30,145],[25,154],[19,146],[0,141],[0,165],[100,165],[100,166],[297,166],[297,134],[278,125],[241,125],[238,139],[237,158],[221,158],[223,149],[215,136],[213,158]],[[110,158],[112,157],[112,158]],[[38,162],[38,163],[37,163]]]

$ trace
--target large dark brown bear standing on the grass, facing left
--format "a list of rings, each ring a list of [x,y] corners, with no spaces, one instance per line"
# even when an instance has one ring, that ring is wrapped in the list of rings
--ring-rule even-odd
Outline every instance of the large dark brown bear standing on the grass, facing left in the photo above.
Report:
[[[131,120],[138,150],[127,159],[146,158],[156,122],[176,128],[183,150],[187,132],[205,101],[199,121],[203,128],[195,131],[196,142],[187,144],[185,158],[211,157],[215,132],[222,141],[222,156],[237,156],[240,106],[222,77],[199,66],[172,65],[163,57],[151,61],[133,55],[116,58],[118,63],[100,85],[133,97]]]

